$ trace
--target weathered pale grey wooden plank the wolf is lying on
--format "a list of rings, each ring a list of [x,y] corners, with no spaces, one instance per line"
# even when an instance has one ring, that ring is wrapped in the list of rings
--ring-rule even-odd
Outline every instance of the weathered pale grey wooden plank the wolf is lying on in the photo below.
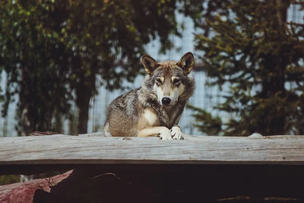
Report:
[[[304,164],[301,137],[124,139],[62,134],[1,138],[0,164]]]

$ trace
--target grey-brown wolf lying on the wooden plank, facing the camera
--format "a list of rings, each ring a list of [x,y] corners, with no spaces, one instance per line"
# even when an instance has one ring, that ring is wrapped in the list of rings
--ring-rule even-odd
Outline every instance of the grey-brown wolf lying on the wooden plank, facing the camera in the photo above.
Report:
[[[107,107],[104,135],[183,139],[177,124],[195,90],[190,73],[193,53],[185,53],[178,62],[157,62],[144,54],[142,64],[147,74],[141,86],[117,97]]]

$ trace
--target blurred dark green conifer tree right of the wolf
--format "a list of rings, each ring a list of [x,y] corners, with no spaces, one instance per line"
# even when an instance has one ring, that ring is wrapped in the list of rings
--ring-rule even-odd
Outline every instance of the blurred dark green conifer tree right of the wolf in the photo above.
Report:
[[[287,22],[291,4],[304,8],[303,1],[209,1],[196,48],[205,52],[208,85],[230,87],[214,109],[233,117],[223,122],[190,107],[202,132],[304,134],[304,24]]]

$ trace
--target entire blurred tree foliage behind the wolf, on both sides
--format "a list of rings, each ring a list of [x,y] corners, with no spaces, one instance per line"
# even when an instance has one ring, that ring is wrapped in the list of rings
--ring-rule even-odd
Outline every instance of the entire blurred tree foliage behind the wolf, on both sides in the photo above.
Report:
[[[140,73],[144,45],[156,38],[160,52],[181,36],[176,12],[192,18],[196,49],[203,53],[207,85],[229,86],[196,126],[209,135],[303,134],[303,25],[287,22],[290,5],[303,1],[0,1],[2,115],[17,95],[20,135],[60,131],[62,118],[86,133],[90,99],[98,87],[121,88]],[[71,106],[78,111],[72,112]],[[76,129],[77,128],[77,129]]]

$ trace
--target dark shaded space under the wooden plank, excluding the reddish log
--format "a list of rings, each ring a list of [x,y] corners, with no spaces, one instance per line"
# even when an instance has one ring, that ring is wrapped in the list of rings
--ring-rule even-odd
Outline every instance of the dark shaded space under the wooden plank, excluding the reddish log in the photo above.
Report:
[[[0,174],[26,171],[26,175],[75,168],[69,177],[51,187],[51,193],[37,189],[34,202],[304,201],[303,165],[88,164],[0,168]]]

